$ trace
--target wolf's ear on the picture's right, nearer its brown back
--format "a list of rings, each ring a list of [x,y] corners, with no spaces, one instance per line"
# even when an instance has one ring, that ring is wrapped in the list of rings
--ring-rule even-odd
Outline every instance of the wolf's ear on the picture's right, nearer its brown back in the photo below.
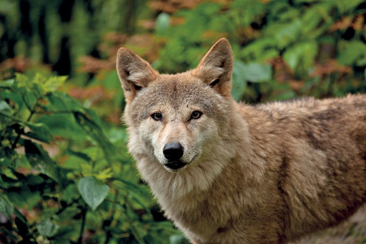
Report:
[[[232,70],[233,52],[229,41],[222,38],[211,47],[192,74],[224,97],[229,97]]]

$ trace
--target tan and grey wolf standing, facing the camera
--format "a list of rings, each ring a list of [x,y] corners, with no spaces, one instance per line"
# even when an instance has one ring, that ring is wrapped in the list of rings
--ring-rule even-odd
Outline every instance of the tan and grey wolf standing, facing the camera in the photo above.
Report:
[[[194,244],[285,243],[363,205],[366,95],[237,103],[232,69],[226,39],[174,75],[118,51],[128,149],[166,217]]]

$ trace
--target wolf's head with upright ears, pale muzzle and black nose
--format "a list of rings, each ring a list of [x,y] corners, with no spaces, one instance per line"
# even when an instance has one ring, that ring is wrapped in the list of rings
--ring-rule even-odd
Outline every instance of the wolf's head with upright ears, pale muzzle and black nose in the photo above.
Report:
[[[230,123],[232,67],[226,39],[217,41],[197,68],[175,75],[159,74],[147,61],[120,48],[117,71],[133,156],[148,157],[153,159],[150,163],[177,172],[203,167],[200,162],[220,157],[220,148],[227,151],[222,135]]]

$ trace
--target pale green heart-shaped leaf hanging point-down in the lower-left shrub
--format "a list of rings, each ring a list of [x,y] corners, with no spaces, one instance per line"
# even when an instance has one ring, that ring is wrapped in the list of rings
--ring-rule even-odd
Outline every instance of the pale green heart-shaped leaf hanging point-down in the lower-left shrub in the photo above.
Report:
[[[94,211],[106,198],[109,187],[92,176],[82,178],[78,183],[82,199]]]

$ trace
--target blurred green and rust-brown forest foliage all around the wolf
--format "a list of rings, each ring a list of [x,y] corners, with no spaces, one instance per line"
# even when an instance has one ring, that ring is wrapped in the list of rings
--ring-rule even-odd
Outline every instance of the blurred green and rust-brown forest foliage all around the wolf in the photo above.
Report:
[[[0,242],[186,242],[127,153],[119,47],[176,73],[225,37],[237,101],[339,97],[366,92],[365,23],[362,0],[0,0]]]

